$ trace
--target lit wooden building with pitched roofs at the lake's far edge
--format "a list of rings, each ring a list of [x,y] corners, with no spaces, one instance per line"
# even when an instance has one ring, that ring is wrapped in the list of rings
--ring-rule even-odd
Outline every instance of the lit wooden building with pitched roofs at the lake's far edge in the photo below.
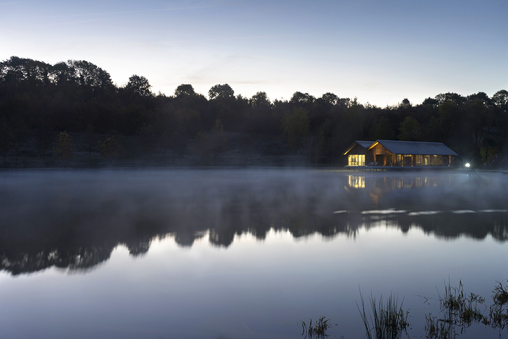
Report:
[[[452,167],[457,153],[442,142],[355,141],[345,152],[348,167]]]

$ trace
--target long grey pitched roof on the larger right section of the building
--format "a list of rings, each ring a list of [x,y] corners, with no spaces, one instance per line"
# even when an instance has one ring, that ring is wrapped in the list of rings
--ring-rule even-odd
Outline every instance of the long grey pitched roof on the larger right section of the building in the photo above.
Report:
[[[384,148],[393,154],[418,154],[435,156],[457,156],[446,144],[442,142],[416,142],[416,141],[398,141],[398,140],[376,140],[370,145],[371,149],[376,143],[380,143]]]

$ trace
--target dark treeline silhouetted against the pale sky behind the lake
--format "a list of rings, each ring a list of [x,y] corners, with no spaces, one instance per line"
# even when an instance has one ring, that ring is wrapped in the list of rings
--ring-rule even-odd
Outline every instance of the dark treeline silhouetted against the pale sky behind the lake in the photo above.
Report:
[[[460,156],[485,164],[508,150],[508,91],[492,97],[445,93],[421,104],[404,99],[386,108],[332,93],[316,98],[295,92],[289,101],[271,101],[265,92],[246,98],[235,96],[228,84],[214,85],[208,98],[189,84],[167,96],[153,94],[144,76],[130,76],[117,86],[108,72],[85,60],[49,65],[12,56],[2,61],[3,165],[17,163],[28,140],[35,140],[43,158],[53,152],[63,159],[68,152],[58,141],[65,140],[62,133],[81,133],[89,152],[100,151],[108,161],[118,149],[132,156],[136,147],[144,155],[158,148],[182,157],[191,143],[201,156],[217,157],[227,133],[242,133],[239,147],[255,135],[279,136],[312,163],[344,165],[341,153],[354,140],[386,139],[444,142]]]

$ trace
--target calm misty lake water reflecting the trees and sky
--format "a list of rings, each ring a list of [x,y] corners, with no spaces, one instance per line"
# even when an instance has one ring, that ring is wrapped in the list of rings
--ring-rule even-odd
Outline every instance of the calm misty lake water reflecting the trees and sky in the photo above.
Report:
[[[359,290],[398,295],[421,338],[445,281],[487,305],[507,282],[507,187],[478,172],[2,172],[0,338],[302,338],[321,315],[363,338]]]

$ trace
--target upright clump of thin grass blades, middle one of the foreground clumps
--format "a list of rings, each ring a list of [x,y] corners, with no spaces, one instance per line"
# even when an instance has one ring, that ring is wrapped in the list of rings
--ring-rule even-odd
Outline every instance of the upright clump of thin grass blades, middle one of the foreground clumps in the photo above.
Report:
[[[379,303],[376,303],[375,298],[369,298],[372,314],[367,316],[365,311],[365,301],[362,292],[360,291],[360,299],[362,308],[358,306],[358,311],[362,316],[365,325],[367,339],[400,339],[403,333],[407,334],[407,315],[403,311],[402,306],[404,300],[398,305],[398,297],[390,295],[387,303],[383,304],[383,299],[380,297]]]

